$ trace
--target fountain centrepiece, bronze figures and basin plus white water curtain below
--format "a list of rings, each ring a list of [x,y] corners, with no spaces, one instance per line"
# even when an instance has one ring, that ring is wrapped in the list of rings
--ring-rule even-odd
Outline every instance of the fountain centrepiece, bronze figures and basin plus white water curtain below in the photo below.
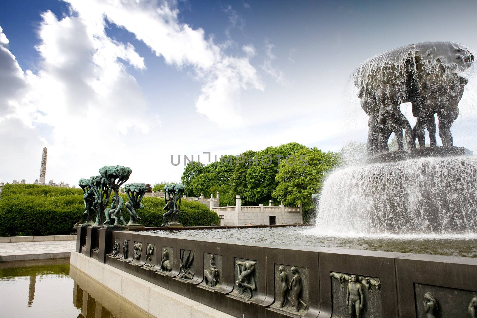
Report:
[[[376,55],[355,70],[353,83],[369,116],[370,158],[328,177],[316,219],[320,233],[477,233],[477,159],[453,145],[450,131],[474,60],[465,45],[424,42]],[[414,128],[399,108],[408,102]],[[443,146],[436,144],[435,114]],[[390,152],[393,132],[399,149]]]

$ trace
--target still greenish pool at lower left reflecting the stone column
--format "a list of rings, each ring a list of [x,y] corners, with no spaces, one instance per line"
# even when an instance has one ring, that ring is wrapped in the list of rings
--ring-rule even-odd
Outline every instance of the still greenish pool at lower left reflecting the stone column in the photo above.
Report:
[[[0,263],[0,317],[151,317],[69,259]]]

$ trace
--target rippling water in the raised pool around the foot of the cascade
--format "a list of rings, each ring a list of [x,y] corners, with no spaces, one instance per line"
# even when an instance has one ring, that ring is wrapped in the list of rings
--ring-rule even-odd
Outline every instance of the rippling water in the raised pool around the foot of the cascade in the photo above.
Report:
[[[324,234],[315,226],[153,231],[160,235],[273,243],[293,246],[356,248],[372,251],[477,257],[477,235]]]

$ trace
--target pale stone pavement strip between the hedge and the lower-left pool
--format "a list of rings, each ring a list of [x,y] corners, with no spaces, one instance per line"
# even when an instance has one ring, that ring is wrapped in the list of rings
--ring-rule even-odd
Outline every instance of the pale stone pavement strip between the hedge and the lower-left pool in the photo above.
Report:
[[[69,257],[76,241],[0,243],[0,262]]]

